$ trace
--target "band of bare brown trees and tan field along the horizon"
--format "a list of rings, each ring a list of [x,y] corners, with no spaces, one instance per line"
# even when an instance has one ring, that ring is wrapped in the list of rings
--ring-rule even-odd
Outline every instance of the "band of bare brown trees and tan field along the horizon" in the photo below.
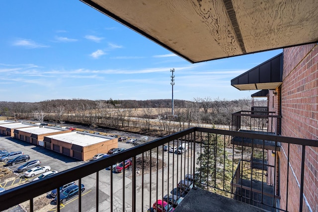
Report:
[[[254,106],[267,106],[266,101],[254,101]],[[0,102],[0,115],[6,120],[35,120],[64,124],[80,123],[92,128],[170,134],[193,126],[231,125],[231,114],[250,110],[251,99],[225,100],[193,98],[192,101],[153,100],[88,100],[54,99],[41,102]],[[133,130],[134,131],[134,130]]]

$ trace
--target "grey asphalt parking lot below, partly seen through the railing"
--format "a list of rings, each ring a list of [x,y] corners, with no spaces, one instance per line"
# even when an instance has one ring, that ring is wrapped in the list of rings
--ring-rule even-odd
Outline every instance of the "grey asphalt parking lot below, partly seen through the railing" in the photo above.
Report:
[[[126,142],[118,142],[118,147],[125,147],[130,148],[133,147],[131,143]],[[6,149],[8,151],[19,151],[22,150],[24,154],[28,154],[30,156],[30,160],[39,159],[41,160],[41,166],[50,166],[51,170],[57,170],[58,172],[70,169],[72,167],[78,166],[80,164],[87,163],[89,161],[79,161],[77,159],[65,156],[63,154],[54,152],[49,149],[45,149],[41,146],[35,146],[32,143],[28,143],[25,141],[16,140],[10,137],[0,137],[0,149]],[[167,155],[170,158],[170,161],[174,159],[174,161],[177,160],[177,158],[182,157],[182,155],[177,155],[173,153],[169,153],[168,151],[164,152],[164,159],[167,159]],[[162,155],[159,155],[160,158],[162,158]],[[28,183],[33,180],[33,178],[38,177],[38,175],[34,177],[25,178],[23,177],[23,173],[16,173],[17,167],[22,165],[22,163],[15,164],[13,166],[9,166],[10,169],[12,169],[15,173],[15,178],[11,179],[9,182],[1,183],[1,187],[4,187],[5,189],[10,189],[16,186],[19,186],[24,183]],[[0,165],[4,165],[5,162],[2,162]],[[4,165],[6,166],[6,165]],[[160,169],[160,167],[159,167]],[[171,170],[171,169],[170,169]],[[175,170],[177,172],[177,170]],[[99,209],[100,211],[110,211],[110,170],[101,170],[99,171],[99,187],[98,187],[98,196],[99,196]],[[153,174],[155,175],[155,174]],[[162,170],[159,170],[158,178],[159,178],[159,184],[161,183],[162,176],[164,178],[167,177],[167,173],[164,172],[162,175]],[[155,177],[155,178],[154,178]],[[172,175],[169,174],[169,178],[171,178]],[[152,176],[152,182],[156,182],[156,176]],[[150,188],[147,188],[148,183],[150,181],[149,174],[144,175],[144,192],[147,194],[149,192]],[[169,180],[171,184],[172,179]],[[77,182],[76,182],[77,183]],[[85,190],[82,192],[82,211],[89,212],[89,211],[95,211],[95,203],[96,203],[96,175],[92,174],[90,176],[86,176],[81,179],[81,183],[84,184]],[[77,183],[78,184],[78,183]],[[141,176],[137,176],[136,179],[136,195],[141,196],[141,185],[142,185],[142,178]],[[114,207],[116,208],[122,208],[122,206],[119,204],[121,203],[122,197],[123,197],[123,173],[115,173],[113,172],[113,203]],[[158,185],[159,187],[161,185]],[[172,188],[172,184],[169,185],[168,188]],[[152,191],[155,191],[156,185],[152,184]],[[35,200],[34,204],[40,205],[42,208],[40,211],[56,211],[56,204],[54,201],[52,201],[52,197],[50,196],[50,192],[48,191],[47,194],[43,194],[41,199]],[[168,191],[164,191],[168,192]],[[152,194],[152,199],[156,197],[156,194]],[[132,199],[132,191],[131,191],[131,171],[127,169],[125,171],[125,210],[129,211],[131,204],[130,201]],[[149,195],[144,196],[145,203],[149,202]],[[118,202],[118,204],[116,204]],[[154,200],[150,201],[154,202]],[[67,212],[76,212],[78,206],[78,197],[74,197],[68,201],[66,201],[64,204],[61,205],[62,211]],[[25,206],[27,207],[27,205]],[[137,206],[141,207],[141,206]],[[140,211],[147,211],[147,209],[144,206],[144,209],[139,208]]]

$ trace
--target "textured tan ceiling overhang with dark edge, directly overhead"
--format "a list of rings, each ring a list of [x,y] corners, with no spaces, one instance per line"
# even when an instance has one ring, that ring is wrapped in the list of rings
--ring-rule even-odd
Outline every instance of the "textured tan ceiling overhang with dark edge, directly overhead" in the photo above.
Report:
[[[318,42],[316,0],[81,1],[191,63]]]

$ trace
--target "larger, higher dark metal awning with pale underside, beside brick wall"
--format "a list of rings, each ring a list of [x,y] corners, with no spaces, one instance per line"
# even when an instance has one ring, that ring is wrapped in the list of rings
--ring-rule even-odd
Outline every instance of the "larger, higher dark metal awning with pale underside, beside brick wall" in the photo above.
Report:
[[[275,89],[282,83],[283,53],[231,80],[239,90]]]

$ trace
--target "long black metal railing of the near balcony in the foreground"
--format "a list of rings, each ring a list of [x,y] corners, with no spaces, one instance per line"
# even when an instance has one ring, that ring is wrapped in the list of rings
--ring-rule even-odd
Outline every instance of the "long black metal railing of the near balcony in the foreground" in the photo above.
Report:
[[[287,211],[287,205],[281,209],[277,203],[280,199],[288,199],[288,192],[279,193],[279,182],[284,182],[284,187],[288,188],[290,186],[289,175],[287,175],[287,179],[269,182],[266,169],[255,168],[251,165],[255,163],[251,155],[254,155],[256,150],[261,152],[259,158],[262,160],[258,161],[258,164],[270,168],[273,179],[279,179],[279,170],[284,169],[288,173],[290,166],[265,165],[263,161],[271,151],[267,153],[265,148],[231,144],[234,137],[248,138],[251,141],[258,140],[263,143],[274,141],[275,146],[278,142],[288,143],[288,146],[295,144],[301,149],[302,155],[299,156],[298,164],[302,171],[299,179],[300,193],[294,199],[299,203],[299,208],[291,209],[289,207],[288,211],[302,211],[304,167],[305,160],[307,160],[305,148],[307,146],[318,147],[317,141],[207,128],[190,128],[100,160],[87,162],[47,179],[9,189],[0,194],[0,211],[18,204],[27,204],[28,211],[39,210],[35,204],[39,201],[39,196],[49,194],[51,190],[71,181],[77,181],[78,185],[85,184],[86,190],[83,193],[79,191],[79,195],[69,201],[72,206],[62,204],[61,194],[58,192],[57,204],[52,203],[51,206],[53,210],[60,211],[62,207],[72,207],[74,211],[78,212],[98,212],[101,209],[147,211],[157,200],[163,200],[165,195],[176,195],[181,200],[191,188],[200,187],[249,204],[263,205],[266,209]],[[184,144],[185,148],[180,149],[180,154],[168,153],[163,149],[165,144],[171,145],[172,149]],[[289,161],[292,155],[287,153],[286,157],[286,160]],[[276,156],[273,157],[273,164],[277,164],[276,158]],[[122,174],[105,170],[114,163],[126,159],[131,159],[132,167],[123,169]],[[243,168],[248,168],[247,174]],[[194,177],[188,178],[187,174]],[[258,176],[257,180],[261,182],[261,185],[270,185],[272,190],[268,192],[263,186],[259,189],[254,183],[251,183],[254,182],[255,176]],[[180,185],[179,182],[182,180],[184,184]],[[243,180],[246,180],[247,183]],[[255,199],[250,193],[246,195],[248,192],[257,193],[261,197],[270,196],[272,199],[270,201],[265,201],[264,198]]]

